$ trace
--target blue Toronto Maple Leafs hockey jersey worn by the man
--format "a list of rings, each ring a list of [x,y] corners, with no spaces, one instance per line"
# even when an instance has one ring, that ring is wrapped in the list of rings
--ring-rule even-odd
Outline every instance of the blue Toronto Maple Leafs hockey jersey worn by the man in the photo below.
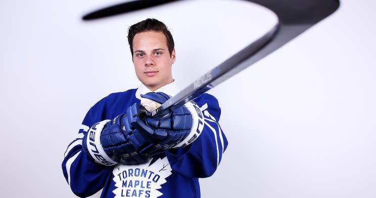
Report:
[[[173,82],[155,92],[173,96],[177,91]],[[218,124],[218,101],[212,95],[203,94],[194,100],[205,121],[201,135],[189,146],[171,149],[138,165],[103,166],[91,161],[82,151],[82,138],[89,126],[125,113],[133,103],[140,102],[140,94],[148,92],[151,91],[141,85],[138,89],[113,93],[87,112],[62,163],[63,174],[77,196],[90,196],[102,189],[101,197],[106,198],[200,197],[198,178],[214,173],[227,147],[227,139]]]

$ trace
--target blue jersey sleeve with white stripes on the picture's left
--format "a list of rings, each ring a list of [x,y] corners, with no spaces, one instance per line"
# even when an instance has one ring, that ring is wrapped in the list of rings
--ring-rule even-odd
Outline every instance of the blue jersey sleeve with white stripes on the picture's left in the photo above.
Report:
[[[90,196],[104,187],[113,167],[91,161],[82,150],[82,138],[89,127],[102,121],[104,99],[87,112],[77,138],[68,145],[62,163],[63,174],[73,193],[80,197]],[[99,114],[98,114],[99,113]]]

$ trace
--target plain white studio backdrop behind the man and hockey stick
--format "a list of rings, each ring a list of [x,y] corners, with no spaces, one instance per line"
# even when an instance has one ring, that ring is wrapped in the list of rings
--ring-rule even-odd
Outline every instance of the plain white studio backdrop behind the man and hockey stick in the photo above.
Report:
[[[61,170],[66,146],[99,99],[138,85],[127,28],[171,29],[184,86],[275,20],[242,1],[183,1],[95,22],[123,1],[1,1],[3,197],[75,197]],[[373,1],[340,9],[209,93],[229,141],[202,197],[376,197],[376,34]]]

